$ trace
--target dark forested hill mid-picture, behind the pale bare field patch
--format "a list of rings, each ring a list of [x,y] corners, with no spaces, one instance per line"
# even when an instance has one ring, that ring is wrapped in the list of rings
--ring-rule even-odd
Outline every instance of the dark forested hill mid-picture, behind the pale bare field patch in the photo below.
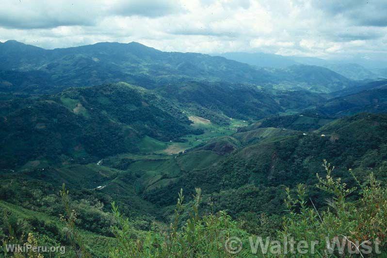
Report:
[[[251,86],[190,82],[164,86],[157,91],[182,103],[188,111],[203,113],[203,117],[215,121],[222,119],[222,114],[226,118],[247,120],[283,110],[273,96]]]

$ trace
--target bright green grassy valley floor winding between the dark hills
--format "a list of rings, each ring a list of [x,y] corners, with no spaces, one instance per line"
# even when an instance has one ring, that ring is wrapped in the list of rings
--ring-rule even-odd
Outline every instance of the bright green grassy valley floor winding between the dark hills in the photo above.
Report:
[[[204,133],[187,135],[184,137],[185,142],[161,142],[146,136],[138,144],[142,154],[126,153],[103,159],[102,165],[119,167],[124,162],[126,166],[122,168],[125,171],[118,170],[115,174],[117,177],[106,178],[106,188],[101,191],[134,198],[137,194],[175,182],[183,172],[216,165],[224,156],[210,150],[176,154],[198,145],[205,145],[217,137],[231,135],[238,127],[245,125],[247,122],[235,119],[230,119],[229,126],[199,125],[203,126]]]

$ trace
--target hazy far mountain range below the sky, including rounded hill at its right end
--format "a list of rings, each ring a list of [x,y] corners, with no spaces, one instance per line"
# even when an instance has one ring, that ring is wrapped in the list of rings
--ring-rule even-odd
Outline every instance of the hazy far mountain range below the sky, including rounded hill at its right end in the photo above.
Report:
[[[352,85],[350,80],[317,66],[257,68],[219,56],[162,52],[135,42],[105,42],[46,50],[7,41],[0,44],[0,58],[4,61],[0,64],[0,70],[24,73],[39,71],[44,74],[44,77],[40,76],[39,85],[36,85],[35,79],[32,84],[20,85],[20,82],[13,80],[12,75],[0,77],[0,82],[6,85],[7,91],[21,90],[28,93],[39,93],[39,89],[46,89],[48,84],[53,89],[58,89],[118,81],[145,88],[187,81],[227,81],[324,93]],[[323,78],[321,74],[327,76]],[[9,77],[12,80],[8,80]]]

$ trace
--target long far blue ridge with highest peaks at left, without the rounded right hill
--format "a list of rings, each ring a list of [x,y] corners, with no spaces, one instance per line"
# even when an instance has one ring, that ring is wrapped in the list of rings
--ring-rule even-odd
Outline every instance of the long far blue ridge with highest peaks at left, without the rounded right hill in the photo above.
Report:
[[[97,43],[46,50],[7,41],[0,45],[2,70],[39,70],[56,85],[85,86],[127,81],[153,88],[170,81],[207,80],[269,83],[264,70],[197,53],[162,52],[136,42]]]

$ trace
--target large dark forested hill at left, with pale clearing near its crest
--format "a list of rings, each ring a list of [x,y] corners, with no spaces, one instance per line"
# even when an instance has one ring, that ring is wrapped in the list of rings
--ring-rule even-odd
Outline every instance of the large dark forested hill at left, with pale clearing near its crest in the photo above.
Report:
[[[125,83],[0,103],[1,167],[7,168],[39,158],[95,160],[136,152],[145,136],[176,141],[201,133],[170,101]]]

